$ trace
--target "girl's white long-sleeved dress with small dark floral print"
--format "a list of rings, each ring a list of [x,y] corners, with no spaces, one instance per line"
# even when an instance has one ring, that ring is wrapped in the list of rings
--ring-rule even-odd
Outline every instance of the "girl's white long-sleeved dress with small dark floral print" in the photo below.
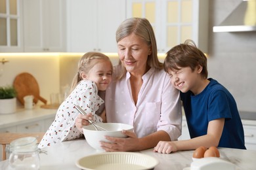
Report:
[[[43,139],[39,143],[39,148],[51,146],[62,141],[68,141],[83,137],[75,127],[75,118],[79,112],[74,105],[79,105],[86,113],[92,113],[95,122],[102,122],[102,118],[95,112],[100,108],[104,100],[98,96],[98,89],[95,82],[91,80],[81,80],[75,87],[73,92],[58,107],[55,120],[45,133]]]

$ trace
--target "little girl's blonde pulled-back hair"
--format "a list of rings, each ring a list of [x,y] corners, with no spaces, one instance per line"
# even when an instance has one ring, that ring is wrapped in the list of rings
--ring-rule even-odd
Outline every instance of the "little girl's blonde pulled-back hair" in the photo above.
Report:
[[[110,58],[108,56],[100,53],[100,52],[87,52],[85,53],[81,59],[78,62],[78,69],[77,73],[75,74],[73,80],[72,80],[72,86],[70,92],[74,90],[74,88],[77,86],[77,84],[83,80],[81,77],[81,73],[89,73],[89,71],[95,66],[96,63],[98,63],[99,60],[104,60],[104,61],[110,61]],[[111,64],[112,66],[112,64]],[[113,70],[113,67],[112,67]]]

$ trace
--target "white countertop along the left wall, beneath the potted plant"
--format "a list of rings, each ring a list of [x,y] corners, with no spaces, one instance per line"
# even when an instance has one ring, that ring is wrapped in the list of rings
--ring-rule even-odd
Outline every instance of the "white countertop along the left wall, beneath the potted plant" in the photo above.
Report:
[[[54,115],[56,115],[56,109],[41,109],[40,107],[31,110],[17,109],[16,112],[11,114],[0,114],[0,129],[52,118]]]

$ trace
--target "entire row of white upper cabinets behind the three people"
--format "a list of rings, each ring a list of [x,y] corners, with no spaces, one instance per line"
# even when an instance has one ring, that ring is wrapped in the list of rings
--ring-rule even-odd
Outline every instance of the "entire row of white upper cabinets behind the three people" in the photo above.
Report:
[[[0,0],[1,52],[117,52],[126,18],[147,18],[158,52],[192,39],[207,52],[209,0]]]

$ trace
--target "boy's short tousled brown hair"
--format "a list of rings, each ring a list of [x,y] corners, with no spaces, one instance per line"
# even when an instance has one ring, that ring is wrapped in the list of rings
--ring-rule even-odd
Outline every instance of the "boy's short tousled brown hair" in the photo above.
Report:
[[[169,73],[169,70],[179,70],[179,67],[190,67],[194,71],[198,65],[201,65],[203,67],[201,75],[203,78],[208,76],[207,58],[192,40],[186,40],[184,44],[171,48],[163,64],[166,73]]]

